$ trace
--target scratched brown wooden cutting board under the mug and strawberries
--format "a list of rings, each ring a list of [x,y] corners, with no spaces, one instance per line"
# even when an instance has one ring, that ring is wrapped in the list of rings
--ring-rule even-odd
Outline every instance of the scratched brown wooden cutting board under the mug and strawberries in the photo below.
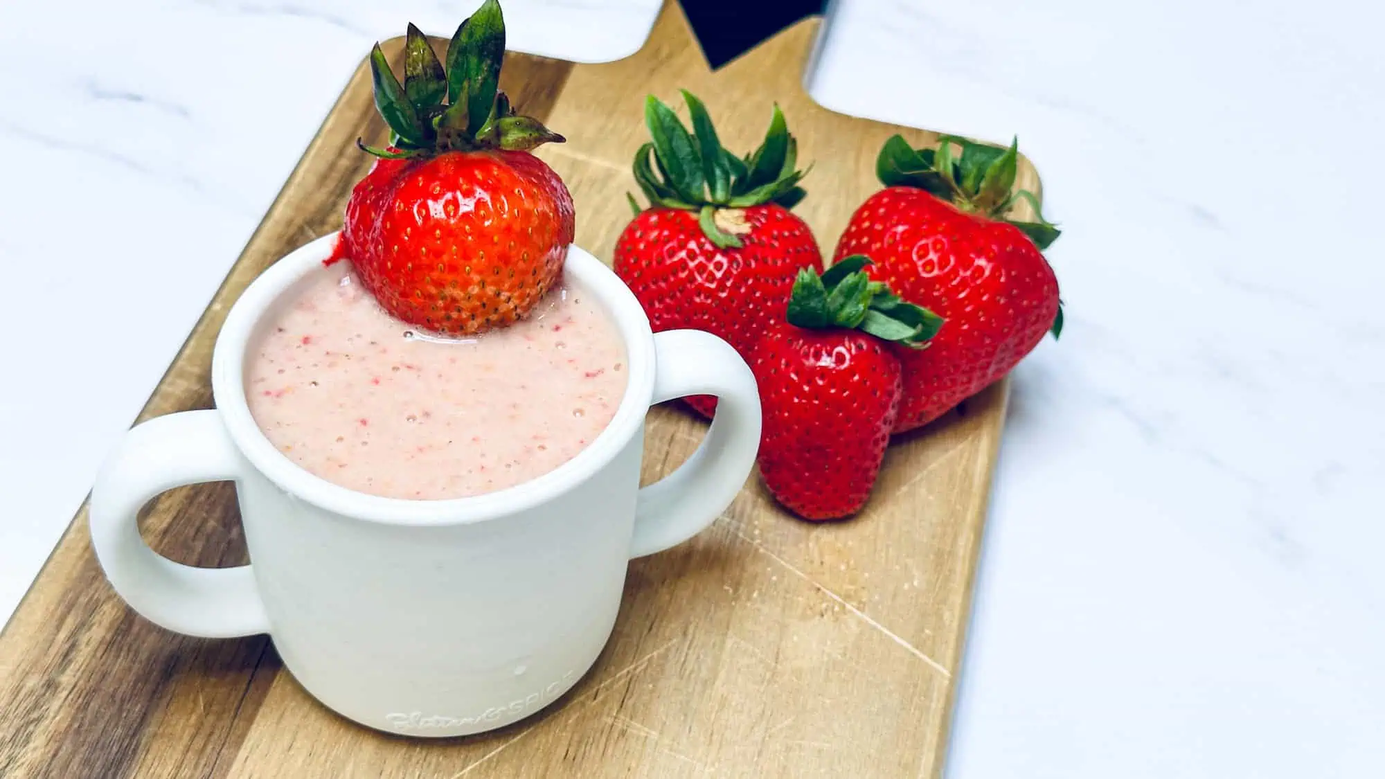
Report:
[[[801,79],[817,28],[799,22],[712,73],[669,3],[644,49],[619,62],[508,55],[503,87],[571,139],[542,157],[572,189],[578,241],[609,258],[629,220],[643,98],[677,103],[687,87],[731,148],[752,148],[778,101],[799,158],[816,161],[798,212],[830,255],[878,187],[881,143],[895,132],[914,146],[935,136],[816,105]],[[400,50],[385,44],[396,68]],[[357,136],[384,139],[364,65],[141,420],[211,406],[211,349],[227,308],[267,265],[339,227],[368,166]],[[1028,162],[1021,183],[1037,189]],[[265,636],[198,640],[134,615],[101,577],[83,509],[0,633],[0,776],[936,776],[1004,413],[1000,384],[897,441],[868,509],[848,523],[792,520],[752,478],[697,539],[630,564],[609,646],[558,704],[445,742],[331,714],[281,671]],[[652,410],[645,481],[681,462],[704,428],[677,409]],[[143,528],[184,563],[245,561],[229,484],[165,493]]]

